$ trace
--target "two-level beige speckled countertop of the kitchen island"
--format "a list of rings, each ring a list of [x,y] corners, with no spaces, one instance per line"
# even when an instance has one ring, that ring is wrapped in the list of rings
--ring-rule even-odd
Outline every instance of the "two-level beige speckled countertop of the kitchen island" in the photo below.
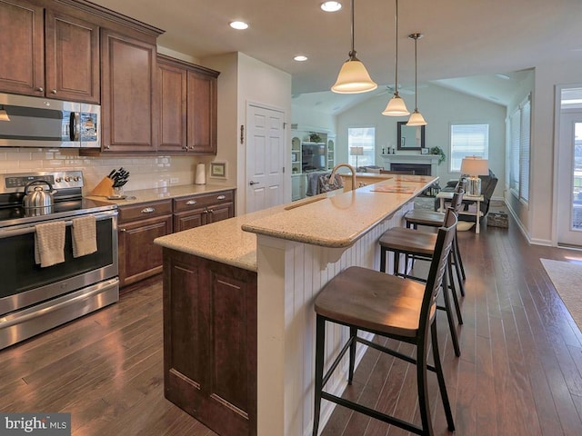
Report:
[[[437,180],[431,176],[394,175],[355,191],[323,193],[168,234],[155,242],[256,271],[256,234],[331,248],[348,247]]]

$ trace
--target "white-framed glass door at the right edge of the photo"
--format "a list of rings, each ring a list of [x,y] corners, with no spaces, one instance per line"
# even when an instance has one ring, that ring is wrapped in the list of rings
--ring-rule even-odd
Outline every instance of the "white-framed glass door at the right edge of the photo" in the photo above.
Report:
[[[557,163],[557,243],[582,246],[582,113],[562,113]]]

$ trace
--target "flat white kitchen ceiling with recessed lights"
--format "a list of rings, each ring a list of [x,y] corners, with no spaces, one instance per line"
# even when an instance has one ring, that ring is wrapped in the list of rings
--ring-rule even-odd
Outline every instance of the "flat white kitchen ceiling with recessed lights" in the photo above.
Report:
[[[350,48],[349,1],[343,0],[344,7],[334,14],[320,10],[322,1],[94,3],[166,30],[158,45],[171,50],[198,59],[238,51],[273,65],[292,74],[297,95],[329,90]],[[479,92],[485,98],[495,97],[497,84],[507,83],[493,74],[582,59],[580,0],[400,0],[398,5],[398,74],[405,87],[414,84],[414,43],[407,38],[414,32],[425,35],[418,41],[419,83],[438,80],[459,86],[442,79],[487,76],[494,82]],[[235,31],[228,26],[233,20],[244,20],[250,27]],[[358,57],[378,84],[393,84],[395,2],[356,0],[355,27]],[[296,62],[296,54],[309,59]],[[467,86],[478,90],[486,84],[473,80],[463,89]]]

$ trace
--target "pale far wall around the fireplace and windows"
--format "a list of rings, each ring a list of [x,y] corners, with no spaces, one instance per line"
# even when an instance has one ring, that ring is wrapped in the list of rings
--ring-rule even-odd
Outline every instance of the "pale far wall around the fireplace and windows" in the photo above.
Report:
[[[409,110],[414,109],[414,95],[401,95]],[[407,117],[382,115],[390,95],[372,96],[362,104],[348,109],[336,117],[336,155],[337,162],[347,162],[347,128],[359,125],[376,126],[376,164],[384,166],[381,157],[383,147],[396,148],[396,122],[406,121]],[[458,173],[450,173],[450,124],[474,123],[489,124],[489,167],[496,173],[495,197],[503,196],[505,185],[505,141],[506,108],[500,104],[458,93],[436,84],[429,84],[419,90],[418,110],[426,119],[426,147],[439,146],[447,154],[447,161],[441,163],[437,174],[441,185],[448,180],[457,179]],[[396,151],[396,154],[418,154],[417,151]]]

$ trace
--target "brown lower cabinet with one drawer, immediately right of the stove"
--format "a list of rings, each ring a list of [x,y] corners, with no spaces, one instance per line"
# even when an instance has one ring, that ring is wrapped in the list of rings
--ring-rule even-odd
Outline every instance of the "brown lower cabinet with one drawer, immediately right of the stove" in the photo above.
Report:
[[[119,208],[119,282],[125,286],[162,272],[158,237],[172,233],[172,201]]]

